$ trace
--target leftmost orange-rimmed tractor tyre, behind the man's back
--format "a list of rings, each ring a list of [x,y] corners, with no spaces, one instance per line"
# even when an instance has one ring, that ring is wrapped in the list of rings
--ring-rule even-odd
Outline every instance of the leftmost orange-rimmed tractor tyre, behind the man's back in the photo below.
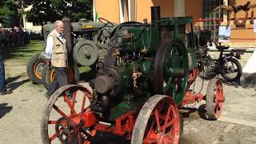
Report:
[[[30,81],[41,84],[42,83],[42,69],[44,67],[44,61],[40,59],[40,54],[35,54],[30,58],[30,62],[26,65],[26,73],[30,78]]]

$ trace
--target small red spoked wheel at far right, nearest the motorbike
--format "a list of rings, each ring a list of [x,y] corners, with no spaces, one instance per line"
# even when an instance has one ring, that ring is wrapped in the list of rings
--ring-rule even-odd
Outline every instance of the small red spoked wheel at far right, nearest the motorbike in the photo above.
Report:
[[[206,91],[206,112],[211,119],[219,118],[224,100],[222,82],[219,79],[211,79]]]

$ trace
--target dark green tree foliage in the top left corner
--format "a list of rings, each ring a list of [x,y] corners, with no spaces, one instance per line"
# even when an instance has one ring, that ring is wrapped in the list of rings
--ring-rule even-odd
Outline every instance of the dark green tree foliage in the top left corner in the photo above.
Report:
[[[15,14],[17,14],[17,6],[14,5],[12,0],[0,1],[0,23],[4,27],[10,27],[12,25],[11,20]]]

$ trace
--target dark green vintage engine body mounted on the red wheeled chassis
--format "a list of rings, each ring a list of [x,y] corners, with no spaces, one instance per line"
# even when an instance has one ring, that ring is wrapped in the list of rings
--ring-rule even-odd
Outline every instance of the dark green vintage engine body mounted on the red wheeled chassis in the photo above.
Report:
[[[157,10],[152,11],[150,24],[118,26],[104,67],[90,82],[90,108],[102,118],[113,121],[129,110],[137,111],[154,94],[173,95],[178,105],[182,102],[189,67],[196,66],[195,52],[187,54],[182,39],[192,18],[160,19]]]

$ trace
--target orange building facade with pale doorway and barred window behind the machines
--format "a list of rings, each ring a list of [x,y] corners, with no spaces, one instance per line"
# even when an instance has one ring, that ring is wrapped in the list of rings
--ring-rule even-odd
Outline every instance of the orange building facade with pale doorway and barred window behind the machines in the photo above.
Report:
[[[192,16],[194,25],[211,30],[214,38],[218,38],[219,26],[230,26],[230,41],[227,44],[232,47],[256,47],[256,32],[254,24],[250,23],[251,13],[256,8],[248,11],[246,26],[234,25],[234,12],[228,14],[222,9],[213,12],[218,6],[243,6],[246,2],[250,2],[250,5],[256,4],[256,0],[94,0],[94,18],[97,15],[117,23],[142,22],[147,18],[150,22],[150,6],[161,6],[162,17]],[[236,16],[243,19],[246,12],[238,11]]]

